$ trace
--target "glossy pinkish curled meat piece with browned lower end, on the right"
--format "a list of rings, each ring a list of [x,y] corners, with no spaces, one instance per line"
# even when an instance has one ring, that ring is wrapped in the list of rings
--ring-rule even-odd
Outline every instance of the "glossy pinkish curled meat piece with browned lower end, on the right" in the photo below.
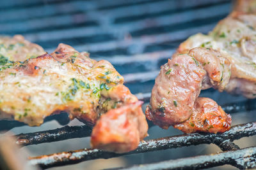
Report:
[[[230,62],[216,50],[193,48],[175,53],[161,67],[146,116],[163,129],[175,125],[188,133],[227,131],[230,115],[211,99],[198,96],[209,87],[224,90],[229,78]]]

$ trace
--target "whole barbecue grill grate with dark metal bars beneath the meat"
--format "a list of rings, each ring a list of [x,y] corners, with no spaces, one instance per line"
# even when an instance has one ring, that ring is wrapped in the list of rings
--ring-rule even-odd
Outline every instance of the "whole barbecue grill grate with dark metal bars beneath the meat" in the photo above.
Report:
[[[231,9],[232,4],[228,0],[1,1],[0,33],[22,34],[47,52],[52,52],[58,43],[67,43],[78,51],[90,52],[93,59],[109,60],[124,75],[125,85],[145,102],[145,108],[159,67],[175,52],[179,43],[197,32],[211,31]],[[37,153],[44,153],[44,147],[63,145],[67,139],[83,138],[84,143],[87,141],[86,145],[77,146],[77,149],[83,148],[80,150],[68,151],[65,148],[60,153],[29,157],[29,164],[42,169],[86,160],[111,161],[113,157],[130,161],[127,167],[118,169],[202,169],[225,164],[239,169],[256,167],[255,140],[240,142],[243,144],[241,148],[237,145],[238,139],[248,136],[251,137],[245,139],[252,139],[256,134],[256,117],[253,114],[256,100],[230,96],[225,92],[220,94],[212,89],[204,90],[200,96],[211,97],[227,113],[234,113],[234,126],[230,131],[223,134],[180,134],[172,127],[163,131],[148,122],[150,136],[141,141],[136,150],[123,154],[84,149],[84,146],[89,146],[86,137],[90,136],[92,127],[76,120],[66,125],[69,121],[67,113],[46,118],[46,124],[51,127],[28,127],[20,122],[1,120],[0,131],[15,132],[17,144],[26,146],[24,148],[34,145],[30,148],[32,154],[37,146]],[[23,133],[19,134],[20,131]],[[160,138],[163,136],[168,137]],[[69,140],[70,145],[76,145],[74,140]],[[203,144],[216,145],[220,150],[214,147],[212,154],[206,154],[202,148],[212,148],[212,145]],[[188,148],[170,150],[184,146]],[[109,167],[116,166],[102,168]]]

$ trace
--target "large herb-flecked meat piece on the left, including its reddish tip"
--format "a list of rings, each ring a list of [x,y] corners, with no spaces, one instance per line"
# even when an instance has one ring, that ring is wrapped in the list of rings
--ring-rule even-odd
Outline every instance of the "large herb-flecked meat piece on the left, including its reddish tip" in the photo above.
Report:
[[[66,111],[88,125],[98,121],[93,147],[129,152],[147,136],[148,125],[141,102],[123,83],[108,61],[97,62],[60,44],[51,54],[13,62],[0,71],[0,118],[40,125],[45,117]],[[102,133],[106,124],[109,131]]]

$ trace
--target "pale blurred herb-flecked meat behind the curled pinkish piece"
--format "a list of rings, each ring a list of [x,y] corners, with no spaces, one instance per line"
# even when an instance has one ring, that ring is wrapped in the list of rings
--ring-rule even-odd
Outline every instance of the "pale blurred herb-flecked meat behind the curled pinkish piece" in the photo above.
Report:
[[[244,1],[244,3],[249,1]],[[254,1],[255,2],[255,1]],[[244,10],[243,10],[244,11]],[[196,34],[179,46],[179,52],[196,46],[218,50],[231,62],[232,85],[225,90],[256,97],[256,15],[234,11],[208,35]],[[244,83],[246,82],[246,83]],[[250,88],[245,87],[250,84]],[[241,90],[239,90],[241,89]],[[252,90],[254,89],[254,90]]]

